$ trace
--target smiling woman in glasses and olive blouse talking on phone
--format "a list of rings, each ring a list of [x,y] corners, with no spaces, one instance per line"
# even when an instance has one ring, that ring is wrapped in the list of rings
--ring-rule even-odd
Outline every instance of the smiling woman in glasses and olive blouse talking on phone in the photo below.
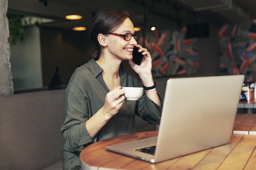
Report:
[[[158,124],[162,112],[151,73],[152,59],[147,49],[137,44],[138,34],[129,13],[102,9],[95,16],[89,35],[96,52],[88,63],[76,69],[65,94],[63,170],[81,168],[79,153],[86,146],[136,132],[135,114]],[[135,46],[144,55],[141,65],[132,62]],[[132,69],[121,64],[124,60]],[[138,101],[126,100],[121,87],[140,84],[147,89],[144,95]]]

